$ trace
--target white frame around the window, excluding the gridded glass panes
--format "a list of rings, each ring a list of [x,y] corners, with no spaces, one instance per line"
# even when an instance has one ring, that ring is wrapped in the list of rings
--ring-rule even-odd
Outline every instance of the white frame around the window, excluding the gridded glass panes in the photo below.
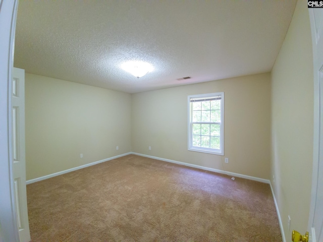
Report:
[[[193,146],[192,145],[193,112],[192,112],[191,98],[209,98],[214,96],[221,96],[220,149],[211,149],[211,148]],[[224,92],[189,95],[187,97],[187,100],[188,100],[187,101],[188,103],[188,127],[187,127],[188,128],[188,150],[202,152],[202,153],[216,154],[216,155],[224,155]]]

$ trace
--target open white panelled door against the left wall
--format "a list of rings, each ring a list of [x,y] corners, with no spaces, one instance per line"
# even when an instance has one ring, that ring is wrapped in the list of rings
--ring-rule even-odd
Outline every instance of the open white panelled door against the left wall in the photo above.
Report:
[[[25,155],[25,70],[14,68],[12,80],[12,158],[20,242],[30,241]]]

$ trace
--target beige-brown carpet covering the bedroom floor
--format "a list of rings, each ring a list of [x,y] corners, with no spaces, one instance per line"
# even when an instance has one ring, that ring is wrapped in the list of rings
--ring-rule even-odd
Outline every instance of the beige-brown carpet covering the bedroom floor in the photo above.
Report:
[[[270,186],[128,155],[27,186],[32,241],[282,241]]]

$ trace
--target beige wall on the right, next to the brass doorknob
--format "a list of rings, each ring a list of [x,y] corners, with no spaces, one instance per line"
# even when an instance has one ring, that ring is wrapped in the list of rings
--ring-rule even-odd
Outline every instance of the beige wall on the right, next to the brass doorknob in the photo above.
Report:
[[[313,158],[313,59],[306,1],[297,3],[272,71],[272,176],[284,233],[305,233]],[[291,230],[288,230],[288,215]]]

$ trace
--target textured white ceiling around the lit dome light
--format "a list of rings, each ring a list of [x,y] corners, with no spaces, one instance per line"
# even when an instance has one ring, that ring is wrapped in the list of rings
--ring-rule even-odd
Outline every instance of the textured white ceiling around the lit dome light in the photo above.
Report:
[[[23,0],[14,66],[128,93],[270,72],[295,5],[296,0]],[[154,71],[137,79],[120,68],[133,60],[152,64]]]

